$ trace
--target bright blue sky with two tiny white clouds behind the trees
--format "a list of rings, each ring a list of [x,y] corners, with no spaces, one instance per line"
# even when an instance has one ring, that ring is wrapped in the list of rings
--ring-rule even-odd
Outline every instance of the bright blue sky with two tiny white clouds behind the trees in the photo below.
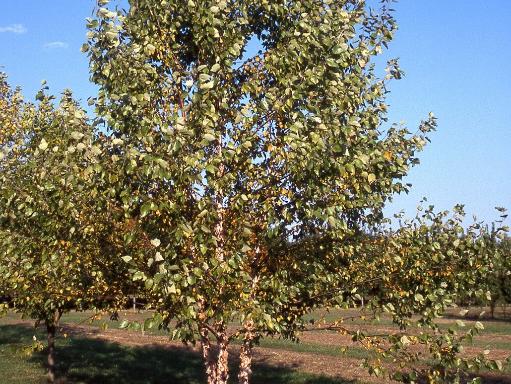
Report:
[[[79,52],[93,6],[2,0],[0,66],[11,85],[30,100],[41,79],[54,93],[94,95]],[[394,8],[400,30],[384,55],[401,57],[406,77],[390,87],[389,122],[404,120],[415,132],[432,111],[439,127],[406,179],[411,193],[396,197],[387,214],[413,216],[425,196],[438,209],[463,203],[468,214],[492,221],[494,206],[511,209],[511,2],[402,0]]]

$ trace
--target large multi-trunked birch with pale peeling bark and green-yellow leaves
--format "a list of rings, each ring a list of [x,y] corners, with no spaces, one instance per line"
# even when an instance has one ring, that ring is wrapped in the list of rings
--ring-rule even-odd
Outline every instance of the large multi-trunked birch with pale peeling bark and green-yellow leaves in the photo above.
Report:
[[[133,223],[123,259],[154,321],[176,318],[173,335],[200,342],[209,383],[227,382],[231,340],[242,341],[247,382],[260,337],[295,338],[303,314],[353,305],[374,282],[385,289],[373,317],[387,311],[405,327],[419,312],[434,327],[445,286],[478,273],[462,258],[485,265],[477,236],[461,243],[456,220],[428,211],[432,225],[389,233],[373,261],[354,241],[407,191],[400,180],[436,125],[431,114],[415,135],[384,126],[386,82],[402,73],[392,60],[379,78],[371,59],[396,29],[390,2],[378,13],[358,0],[107,3],[83,47],[101,87],[96,111],[117,143],[102,196]],[[261,50],[249,56],[249,42]],[[389,337],[393,348],[410,344]],[[428,332],[417,340],[434,345]],[[468,367],[455,343],[430,350],[438,367]],[[432,380],[445,380],[438,367]]]

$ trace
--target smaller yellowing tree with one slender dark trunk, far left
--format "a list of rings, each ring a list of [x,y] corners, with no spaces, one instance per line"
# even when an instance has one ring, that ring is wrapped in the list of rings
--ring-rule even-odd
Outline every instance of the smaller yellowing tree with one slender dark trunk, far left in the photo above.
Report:
[[[36,106],[0,77],[0,289],[16,294],[9,303],[14,311],[45,325],[54,381],[60,316],[113,306],[117,297],[105,299],[128,280],[125,264],[106,257],[115,245],[104,237],[112,232],[108,215],[90,209],[100,151],[91,126],[70,92],[56,107],[45,88]],[[123,278],[112,279],[112,271]]]

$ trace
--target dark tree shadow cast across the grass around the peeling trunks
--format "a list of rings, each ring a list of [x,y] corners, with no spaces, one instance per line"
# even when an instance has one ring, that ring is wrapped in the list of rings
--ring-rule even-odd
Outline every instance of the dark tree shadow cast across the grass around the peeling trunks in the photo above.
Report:
[[[40,329],[23,325],[0,327],[0,349],[11,343],[28,344],[32,336],[44,340]],[[46,351],[29,361],[44,367]],[[84,383],[204,383],[202,358],[197,351],[176,346],[132,347],[82,336],[56,340],[57,372],[60,382]],[[268,362],[269,363],[269,362]],[[0,362],[1,364],[1,362]],[[40,369],[40,368],[39,368]],[[44,373],[41,373],[43,375]],[[237,381],[237,366],[230,364],[231,382]],[[253,383],[346,384],[353,381],[299,372],[292,366],[253,366]]]

